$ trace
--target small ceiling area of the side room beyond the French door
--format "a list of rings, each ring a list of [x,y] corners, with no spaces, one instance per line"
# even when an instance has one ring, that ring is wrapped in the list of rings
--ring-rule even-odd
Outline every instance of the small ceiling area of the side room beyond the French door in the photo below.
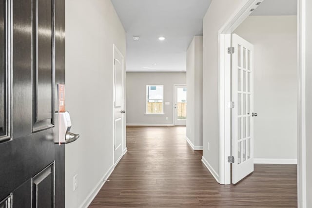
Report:
[[[264,0],[251,15],[297,15],[297,0]]]

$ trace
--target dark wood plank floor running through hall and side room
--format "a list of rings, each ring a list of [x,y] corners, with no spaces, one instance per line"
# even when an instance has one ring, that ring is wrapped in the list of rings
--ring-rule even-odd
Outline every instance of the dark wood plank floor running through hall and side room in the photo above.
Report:
[[[128,152],[90,205],[296,208],[295,165],[255,165],[237,185],[219,185],[185,141],[185,127],[127,127]]]

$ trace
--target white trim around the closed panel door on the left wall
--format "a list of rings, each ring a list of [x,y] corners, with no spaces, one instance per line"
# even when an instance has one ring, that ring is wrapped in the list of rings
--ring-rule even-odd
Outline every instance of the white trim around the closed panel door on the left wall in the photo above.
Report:
[[[125,76],[124,76],[124,72],[125,72],[125,58],[122,55],[122,53],[119,51],[119,49],[117,48],[117,46],[115,44],[113,44],[113,102],[112,102],[112,106],[113,106],[113,166],[114,168],[116,167],[116,165],[118,164],[119,160],[121,159],[121,157],[124,155],[125,151],[126,151],[126,145],[124,144],[126,140],[126,125],[125,125],[125,114],[122,113],[122,140],[121,140],[121,149],[122,149],[122,154],[120,156],[120,158],[118,158],[116,164],[115,164],[115,52],[117,52],[121,57],[122,57],[122,85],[123,85],[123,89],[122,89],[122,93],[123,93],[123,99],[122,99],[122,106],[125,107]],[[119,146],[120,146],[119,145]],[[118,146],[118,147],[119,147]]]

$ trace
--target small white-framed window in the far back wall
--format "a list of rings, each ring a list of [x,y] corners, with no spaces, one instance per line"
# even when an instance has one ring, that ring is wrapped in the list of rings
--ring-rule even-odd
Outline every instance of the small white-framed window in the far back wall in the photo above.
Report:
[[[146,114],[164,113],[164,87],[163,85],[146,86]]]

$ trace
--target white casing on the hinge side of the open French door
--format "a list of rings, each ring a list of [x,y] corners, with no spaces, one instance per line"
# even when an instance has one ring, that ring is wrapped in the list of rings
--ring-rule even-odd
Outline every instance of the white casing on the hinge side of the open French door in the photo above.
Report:
[[[263,0],[248,0],[245,5],[230,18],[219,30],[219,183],[231,184],[231,164],[227,157],[232,155],[231,150],[231,108],[232,101],[231,56],[228,47],[231,47],[231,34],[252,13],[256,3]]]

